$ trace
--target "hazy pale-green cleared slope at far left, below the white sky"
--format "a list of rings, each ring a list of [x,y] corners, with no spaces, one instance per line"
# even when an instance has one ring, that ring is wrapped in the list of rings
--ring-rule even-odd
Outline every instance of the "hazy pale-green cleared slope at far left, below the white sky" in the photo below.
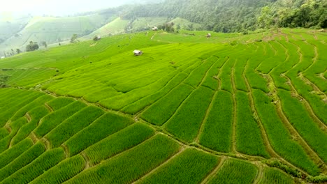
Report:
[[[41,43],[61,42],[68,40],[76,33],[84,35],[94,28],[100,27],[105,20],[101,15],[88,15],[80,17],[34,17],[29,24],[22,29],[19,36],[11,36],[0,45],[1,50],[20,48],[24,50],[29,41]],[[2,32],[2,30],[1,30]],[[41,45],[40,45],[41,46]]]

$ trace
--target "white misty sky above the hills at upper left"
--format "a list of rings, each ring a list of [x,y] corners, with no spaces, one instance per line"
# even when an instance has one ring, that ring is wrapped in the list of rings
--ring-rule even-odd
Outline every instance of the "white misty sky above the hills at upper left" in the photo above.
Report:
[[[69,15],[115,7],[127,2],[133,0],[1,0],[0,13]]]

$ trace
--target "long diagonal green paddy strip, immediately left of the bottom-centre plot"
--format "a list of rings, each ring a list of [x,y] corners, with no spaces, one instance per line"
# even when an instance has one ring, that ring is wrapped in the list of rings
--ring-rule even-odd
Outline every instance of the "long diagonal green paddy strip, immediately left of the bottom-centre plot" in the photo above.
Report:
[[[131,183],[177,153],[180,146],[163,135],[157,135],[129,151],[88,169],[68,183]],[[107,173],[106,175],[102,175]]]

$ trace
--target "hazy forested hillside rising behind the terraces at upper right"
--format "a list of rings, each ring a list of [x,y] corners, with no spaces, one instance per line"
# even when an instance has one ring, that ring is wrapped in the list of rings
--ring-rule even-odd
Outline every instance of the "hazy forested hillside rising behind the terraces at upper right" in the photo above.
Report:
[[[326,28],[326,0],[166,0],[121,11],[133,17],[182,17],[217,32],[254,31],[271,26]],[[166,27],[165,27],[166,29]]]

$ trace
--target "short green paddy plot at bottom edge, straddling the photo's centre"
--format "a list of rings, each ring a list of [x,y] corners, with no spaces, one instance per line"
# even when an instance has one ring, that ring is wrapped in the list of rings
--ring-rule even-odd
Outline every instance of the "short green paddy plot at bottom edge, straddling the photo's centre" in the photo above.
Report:
[[[200,183],[218,161],[215,156],[187,149],[140,183]]]

